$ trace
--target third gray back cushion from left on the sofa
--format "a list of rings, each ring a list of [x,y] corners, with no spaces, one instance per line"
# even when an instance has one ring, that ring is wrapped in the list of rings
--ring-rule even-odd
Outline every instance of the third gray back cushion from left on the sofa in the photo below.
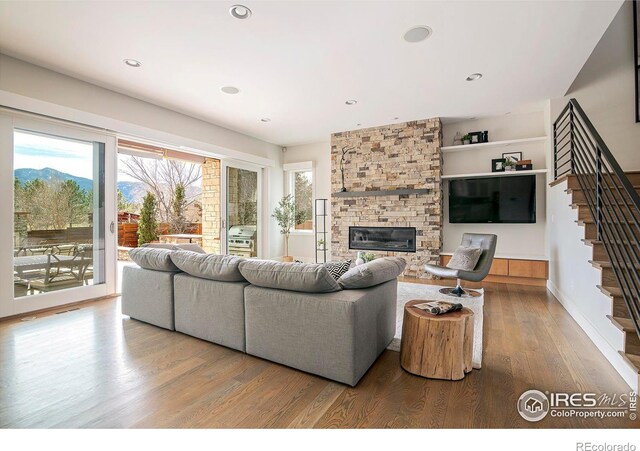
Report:
[[[265,288],[331,293],[340,285],[322,265],[315,263],[280,263],[266,260],[245,260],[240,272],[249,283]]]

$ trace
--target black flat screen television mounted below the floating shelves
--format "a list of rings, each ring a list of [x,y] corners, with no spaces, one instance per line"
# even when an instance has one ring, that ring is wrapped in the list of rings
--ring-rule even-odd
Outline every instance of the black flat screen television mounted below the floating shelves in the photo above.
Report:
[[[449,222],[536,222],[536,176],[512,175],[451,180]]]

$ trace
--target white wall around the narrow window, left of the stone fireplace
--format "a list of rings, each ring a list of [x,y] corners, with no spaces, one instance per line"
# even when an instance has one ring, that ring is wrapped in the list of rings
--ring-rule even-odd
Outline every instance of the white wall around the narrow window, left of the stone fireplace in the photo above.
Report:
[[[287,147],[283,163],[314,162],[314,190],[316,199],[329,199],[327,230],[331,232],[331,143],[321,142]],[[331,235],[327,237],[327,260],[331,256]],[[315,262],[315,235],[293,232],[289,238],[289,254],[305,262]]]

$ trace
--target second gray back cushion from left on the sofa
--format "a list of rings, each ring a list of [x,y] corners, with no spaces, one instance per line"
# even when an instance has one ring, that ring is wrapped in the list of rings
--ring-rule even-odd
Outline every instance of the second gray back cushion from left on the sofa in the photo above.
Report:
[[[244,282],[238,266],[244,258],[233,255],[199,254],[190,251],[171,253],[173,263],[195,277],[220,282]]]

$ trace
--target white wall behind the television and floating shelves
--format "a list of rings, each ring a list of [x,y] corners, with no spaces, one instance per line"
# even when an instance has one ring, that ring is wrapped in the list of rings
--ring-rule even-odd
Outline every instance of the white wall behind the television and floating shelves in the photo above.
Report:
[[[460,131],[462,135],[473,131],[489,132],[489,141],[533,138],[545,136],[544,113],[522,113],[492,116],[443,125],[445,146],[453,145],[453,137]],[[522,152],[524,159],[530,159],[534,169],[547,166],[545,141],[514,144],[507,147],[488,147],[470,150],[443,152],[443,174],[473,174],[491,172],[491,160],[502,158],[503,152]],[[463,148],[462,148],[463,149]],[[449,223],[449,190],[444,181],[443,193],[443,233],[442,252],[453,252],[460,245],[462,234],[495,233],[498,235],[496,255],[513,258],[546,258],[546,178],[536,176],[536,223],[535,224],[451,224]]]

